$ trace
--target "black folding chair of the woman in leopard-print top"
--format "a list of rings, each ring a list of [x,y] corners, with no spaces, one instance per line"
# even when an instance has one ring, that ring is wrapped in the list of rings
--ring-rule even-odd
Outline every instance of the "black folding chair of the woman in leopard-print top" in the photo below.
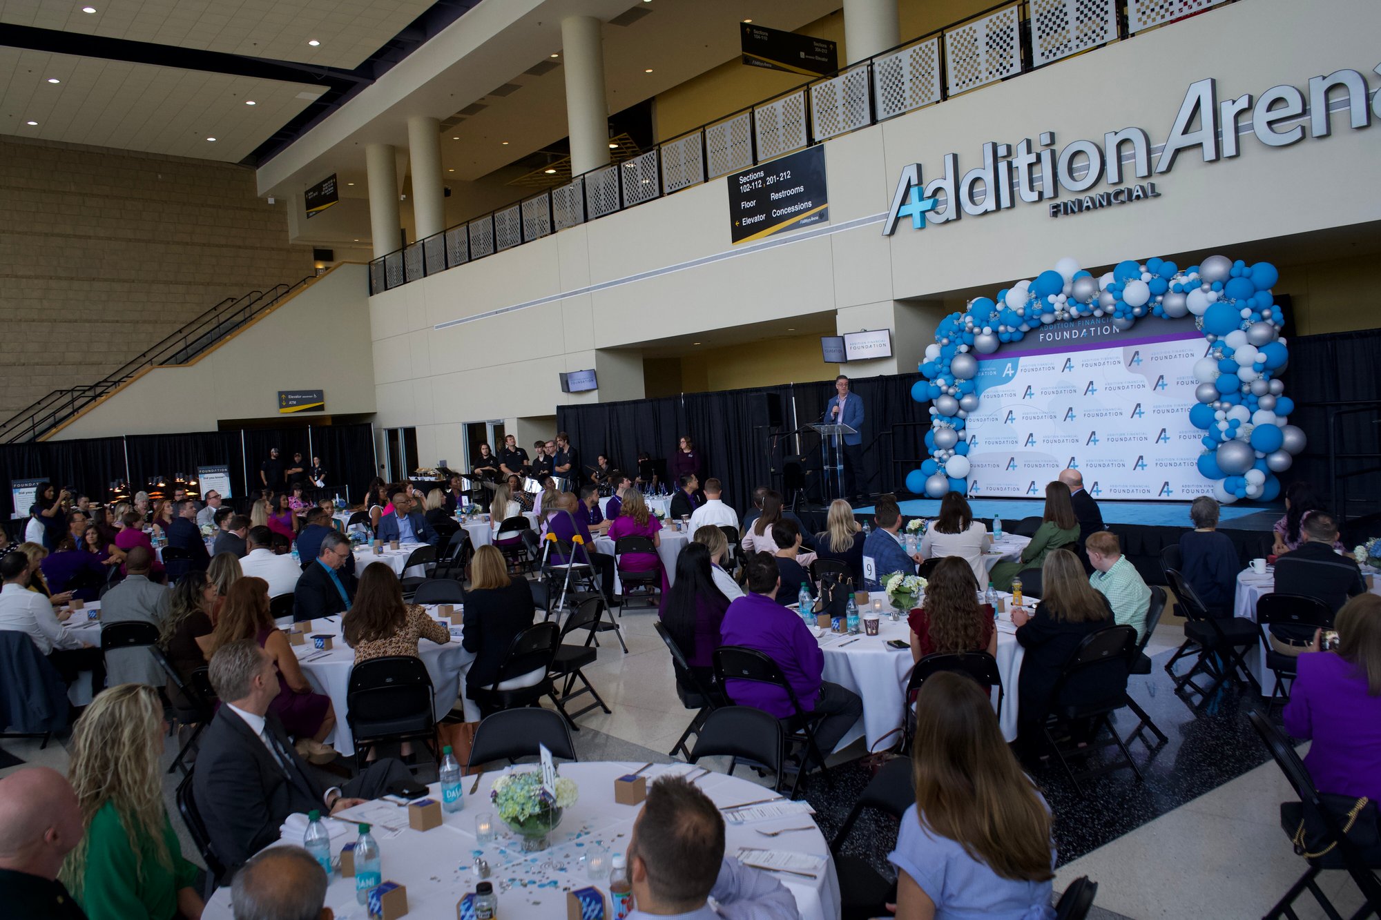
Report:
[[[435,757],[436,692],[427,666],[414,655],[388,655],[352,667],[345,724],[354,736],[356,764],[365,763],[365,751],[392,740],[421,740]]]

